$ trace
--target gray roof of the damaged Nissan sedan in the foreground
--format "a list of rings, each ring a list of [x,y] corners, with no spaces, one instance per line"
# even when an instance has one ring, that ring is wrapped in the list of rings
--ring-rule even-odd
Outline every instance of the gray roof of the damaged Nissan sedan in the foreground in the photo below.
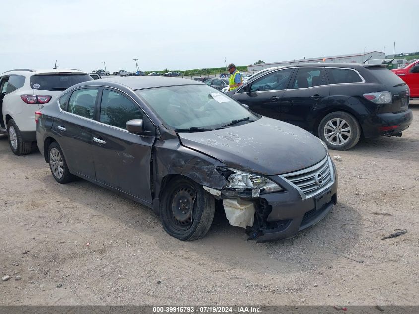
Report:
[[[117,83],[129,87],[132,90],[154,88],[154,87],[165,87],[165,86],[179,86],[179,85],[201,85],[201,82],[197,82],[186,78],[177,77],[164,77],[164,76],[130,76],[130,77],[107,77],[102,78],[101,83]],[[87,85],[97,85],[97,81],[87,81],[83,83]]]

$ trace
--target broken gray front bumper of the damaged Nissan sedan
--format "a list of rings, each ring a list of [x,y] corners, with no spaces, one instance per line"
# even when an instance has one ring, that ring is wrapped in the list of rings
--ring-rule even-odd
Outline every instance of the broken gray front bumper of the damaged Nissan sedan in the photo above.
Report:
[[[287,239],[322,220],[338,201],[336,168],[334,163],[331,163],[334,182],[325,190],[305,199],[290,182],[286,180],[280,182],[276,178],[284,191],[260,195],[256,203],[259,213],[265,211],[269,214],[265,219],[263,228],[260,227],[260,220],[263,218],[258,217],[258,228],[256,226],[256,228],[248,230],[250,238],[256,238],[257,242]],[[271,177],[271,179],[275,180],[274,177]],[[320,197],[324,197],[324,199],[319,199]],[[316,204],[317,201],[321,203]],[[257,224],[256,221],[255,224]]]

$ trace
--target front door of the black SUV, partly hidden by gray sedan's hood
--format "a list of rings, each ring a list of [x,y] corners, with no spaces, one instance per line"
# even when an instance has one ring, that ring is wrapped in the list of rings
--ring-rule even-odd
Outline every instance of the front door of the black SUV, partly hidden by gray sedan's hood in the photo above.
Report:
[[[282,69],[268,74],[239,89],[233,97],[249,109],[266,117],[280,119],[280,100],[288,86],[294,68]]]

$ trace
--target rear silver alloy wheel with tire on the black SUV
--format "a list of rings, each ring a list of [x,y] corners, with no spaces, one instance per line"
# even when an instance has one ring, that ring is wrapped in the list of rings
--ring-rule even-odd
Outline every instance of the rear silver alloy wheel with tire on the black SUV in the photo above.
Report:
[[[327,147],[346,150],[354,147],[361,136],[361,128],[354,116],[343,111],[326,115],[318,128],[319,137]]]

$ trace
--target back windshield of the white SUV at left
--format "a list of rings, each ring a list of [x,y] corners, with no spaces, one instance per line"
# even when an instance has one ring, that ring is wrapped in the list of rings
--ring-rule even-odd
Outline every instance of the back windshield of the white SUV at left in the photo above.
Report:
[[[48,74],[32,75],[31,88],[39,90],[63,91],[67,88],[93,78],[88,74]]]

